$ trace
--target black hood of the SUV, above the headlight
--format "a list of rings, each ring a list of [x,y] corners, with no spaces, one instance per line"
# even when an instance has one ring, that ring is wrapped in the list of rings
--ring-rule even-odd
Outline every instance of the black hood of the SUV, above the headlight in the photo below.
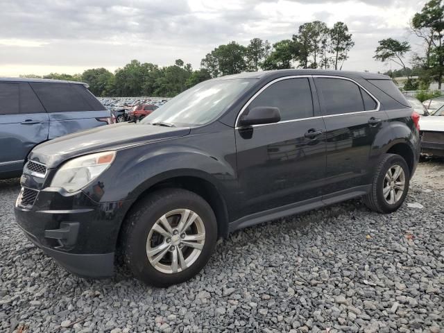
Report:
[[[183,137],[189,132],[190,128],[118,123],[83,130],[45,142],[36,146],[28,159],[46,164],[46,167],[51,169],[71,157]]]

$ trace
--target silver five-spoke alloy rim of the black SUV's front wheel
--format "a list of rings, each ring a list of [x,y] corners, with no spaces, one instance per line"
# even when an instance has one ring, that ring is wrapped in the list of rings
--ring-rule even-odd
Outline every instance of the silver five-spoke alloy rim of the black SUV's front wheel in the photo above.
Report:
[[[205,226],[196,212],[171,210],[158,219],[146,239],[146,256],[162,273],[179,273],[189,268],[202,253]]]

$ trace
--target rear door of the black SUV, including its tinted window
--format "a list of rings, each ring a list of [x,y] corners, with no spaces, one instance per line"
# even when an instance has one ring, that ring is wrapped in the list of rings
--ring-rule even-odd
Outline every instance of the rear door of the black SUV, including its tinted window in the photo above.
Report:
[[[327,76],[314,80],[327,129],[325,195],[367,185],[370,148],[387,120],[386,112],[353,80]]]

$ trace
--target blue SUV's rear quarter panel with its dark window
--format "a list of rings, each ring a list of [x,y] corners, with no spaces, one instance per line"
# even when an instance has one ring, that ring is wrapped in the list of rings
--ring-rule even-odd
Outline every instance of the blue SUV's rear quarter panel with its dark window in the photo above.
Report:
[[[86,87],[76,83],[31,83],[49,114],[49,139],[106,125],[111,117]],[[102,120],[100,120],[102,119]]]

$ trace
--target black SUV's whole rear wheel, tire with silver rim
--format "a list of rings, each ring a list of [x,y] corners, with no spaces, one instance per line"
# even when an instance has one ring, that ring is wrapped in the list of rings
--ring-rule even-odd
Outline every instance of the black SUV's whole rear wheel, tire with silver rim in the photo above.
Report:
[[[404,175],[404,186],[402,192],[399,191],[401,187],[400,184],[402,183],[401,171],[399,177],[395,179],[395,182],[392,183],[391,181],[388,181],[388,179],[391,179],[388,175],[388,171],[390,170],[393,176],[397,176],[396,171],[398,171],[398,167],[402,169],[402,173]],[[388,178],[386,178],[386,176]],[[370,210],[373,210],[374,212],[382,214],[395,212],[402,205],[402,203],[404,203],[407,192],[409,191],[409,184],[410,169],[407,166],[404,158],[402,158],[400,155],[384,154],[377,165],[371,190],[366,196],[364,196],[363,202]],[[385,189],[388,189],[389,193],[384,191],[384,187]],[[394,192],[392,192],[392,189]]]

